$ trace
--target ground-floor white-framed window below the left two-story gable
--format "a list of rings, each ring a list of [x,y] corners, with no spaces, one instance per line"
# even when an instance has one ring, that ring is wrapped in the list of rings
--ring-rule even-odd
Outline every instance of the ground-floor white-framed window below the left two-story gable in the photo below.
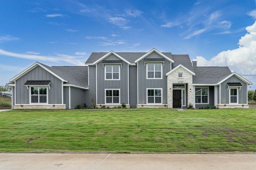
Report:
[[[105,89],[105,104],[120,104],[120,89]]]

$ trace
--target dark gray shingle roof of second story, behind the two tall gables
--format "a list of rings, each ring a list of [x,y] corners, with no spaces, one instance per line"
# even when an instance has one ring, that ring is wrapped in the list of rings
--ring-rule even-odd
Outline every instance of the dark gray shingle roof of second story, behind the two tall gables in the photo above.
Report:
[[[87,59],[87,61],[85,63],[86,64],[93,63],[106,54],[107,54],[107,52],[93,52],[93,53],[91,53],[90,57]],[[122,58],[126,59],[130,63],[134,63],[136,59],[138,59],[141,56],[143,56],[144,54],[146,54],[146,52],[117,52],[116,54],[118,54]],[[163,52],[163,54],[165,54],[166,57],[172,59],[172,53]]]

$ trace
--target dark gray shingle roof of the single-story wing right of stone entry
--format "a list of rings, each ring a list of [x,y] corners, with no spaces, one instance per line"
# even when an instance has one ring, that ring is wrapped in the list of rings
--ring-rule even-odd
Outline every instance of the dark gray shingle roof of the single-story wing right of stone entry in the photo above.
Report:
[[[228,67],[193,67],[193,84],[216,84],[231,74]]]

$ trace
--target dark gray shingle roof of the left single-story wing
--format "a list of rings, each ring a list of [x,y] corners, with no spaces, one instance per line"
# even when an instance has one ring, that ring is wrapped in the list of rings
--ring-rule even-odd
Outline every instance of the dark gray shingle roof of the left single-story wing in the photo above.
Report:
[[[42,64],[42,63],[40,63]],[[57,74],[64,80],[64,84],[73,84],[76,86],[88,87],[88,68],[87,66],[48,66],[42,64],[53,73]]]

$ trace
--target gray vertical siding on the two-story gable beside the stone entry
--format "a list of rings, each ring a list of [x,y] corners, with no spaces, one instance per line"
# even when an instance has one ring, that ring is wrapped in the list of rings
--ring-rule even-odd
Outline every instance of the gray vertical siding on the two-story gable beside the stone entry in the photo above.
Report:
[[[145,58],[163,58],[156,52],[151,53]],[[163,88],[163,104],[167,104],[167,77],[165,76],[171,70],[171,63],[165,59],[165,65],[163,65],[163,79],[146,79],[146,65],[144,60],[138,62],[138,100],[140,104],[147,104],[147,88]]]

